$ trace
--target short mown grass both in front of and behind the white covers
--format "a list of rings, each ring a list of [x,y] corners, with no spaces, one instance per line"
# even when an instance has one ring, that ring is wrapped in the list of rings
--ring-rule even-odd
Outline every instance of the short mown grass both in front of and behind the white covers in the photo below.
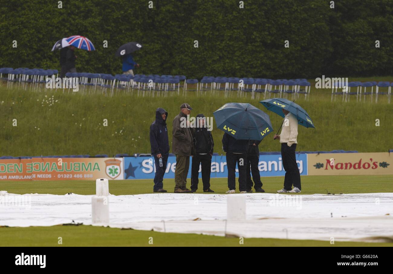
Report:
[[[263,177],[263,188],[275,193],[282,188],[283,177]],[[371,193],[391,192],[393,175],[346,175],[346,176],[302,176],[302,194],[326,193]],[[212,178],[211,188],[224,193],[228,188],[226,178]],[[164,187],[172,191],[173,179],[165,179]],[[64,195],[73,192],[83,195],[95,194],[94,181],[1,181],[0,190],[9,193],[50,193]],[[152,180],[111,180],[110,193],[131,195],[152,193]],[[199,189],[197,193],[203,193]],[[211,194],[206,194],[211,195]],[[59,245],[58,237],[63,244]],[[153,237],[153,245],[149,245]],[[0,227],[0,246],[393,246],[393,243],[355,243],[328,241],[239,239],[197,235],[160,233],[139,230],[121,230],[95,226],[50,226],[50,227]]]

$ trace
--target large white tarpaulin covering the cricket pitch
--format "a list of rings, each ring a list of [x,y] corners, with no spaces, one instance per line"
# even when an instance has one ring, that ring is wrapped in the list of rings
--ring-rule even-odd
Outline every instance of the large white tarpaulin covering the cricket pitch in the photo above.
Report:
[[[0,196],[0,226],[92,223],[92,195]],[[110,195],[109,226],[237,237],[392,241],[393,193],[246,196],[246,221],[225,221],[227,195]]]

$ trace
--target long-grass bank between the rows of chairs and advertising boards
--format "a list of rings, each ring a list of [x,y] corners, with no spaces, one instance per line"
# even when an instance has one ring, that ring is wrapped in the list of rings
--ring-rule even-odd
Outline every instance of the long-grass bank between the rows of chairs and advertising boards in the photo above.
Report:
[[[367,81],[370,78],[350,79]],[[385,77],[378,80],[391,80]],[[387,95],[346,96],[335,95],[331,90],[316,90],[311,82],[310,96],[293,97],[310,114],[316,129],[299,127],[298,151],[330,151],[332,149],[357,150],[359,152],[385,152],[393,149],[391,117],[393,108]],[[106,90],[110,92],[110,90]],[[266,94],[266,98],[279,97]],[[251,103],[269,114],[274,131],[282,118],[266,110],[259,101],[264,94],[237,91],[205,92],[149,92],[115,89],[114,95],[103,94],[84,87],[79,92],[48,90],[44,85],[14,83],[7,88],[0,81],[0,156],[39,156],[73,154],[149,153],[149,127],[155,119],[157,107],[169,112],[169,144],[172,140],[172,121],[184,102],[193,107],[192,116],[203,113],[207,117],[228,102]],[[345,100],[343,100],[345,99]],[[349,99],[349,101],[348,101]],[[378,99],[378,100],[376,100]],[[15,125],[15,119],[17,126]],[[104,119],[108,126],[103,126]],[[375,126],[375,120],[380,126]],[[214,152],[222,153],[220,145],[223,132],[213,126]],[[260,151],[279,151],[273,134],[259,145]]]

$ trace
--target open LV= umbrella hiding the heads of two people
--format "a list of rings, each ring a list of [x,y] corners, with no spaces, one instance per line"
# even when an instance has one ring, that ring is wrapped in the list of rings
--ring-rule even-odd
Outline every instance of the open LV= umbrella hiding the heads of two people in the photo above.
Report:
[[[213,115],[217,128],[237,140],[262,140],[273,131],[269,116],[247,103],[226,103]]]

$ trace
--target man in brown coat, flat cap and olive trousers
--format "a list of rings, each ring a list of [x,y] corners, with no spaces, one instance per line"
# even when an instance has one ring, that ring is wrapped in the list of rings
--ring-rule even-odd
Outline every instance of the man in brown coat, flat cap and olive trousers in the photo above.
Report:
[[[176,169],[174,171],[174,193],[191,193],[186,188],[190,156],[195,154],[193,144],[194,129],[187,119],[192,108],[184,103],[180,106],[180,113],[173,119],[172,151],[176,156]]]

